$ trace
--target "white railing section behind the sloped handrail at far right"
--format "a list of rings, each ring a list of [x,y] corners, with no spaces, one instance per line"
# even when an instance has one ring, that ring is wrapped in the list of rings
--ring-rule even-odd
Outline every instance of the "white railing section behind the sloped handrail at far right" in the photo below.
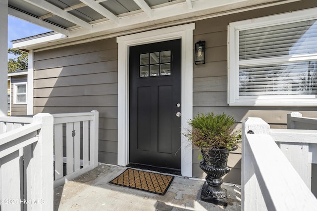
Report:
[[[317,119],[291,112],[287,128],[270,129],[270,135],[311,190],[312,181],[317,182],[312,178],[312,165],[317,164]],[[313,193],[316,195],[316,190]]]

